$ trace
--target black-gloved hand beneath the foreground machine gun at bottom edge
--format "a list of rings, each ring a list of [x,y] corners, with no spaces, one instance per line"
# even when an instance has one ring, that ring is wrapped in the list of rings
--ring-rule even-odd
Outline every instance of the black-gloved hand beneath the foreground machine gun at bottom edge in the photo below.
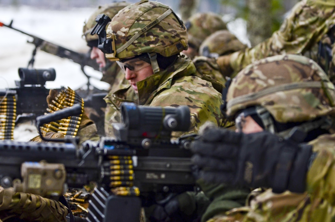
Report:
[[[165,204],[155,204],[147,208],[146,217],[150,222],[184,222],[197,218],[196,193],[185,192]]]

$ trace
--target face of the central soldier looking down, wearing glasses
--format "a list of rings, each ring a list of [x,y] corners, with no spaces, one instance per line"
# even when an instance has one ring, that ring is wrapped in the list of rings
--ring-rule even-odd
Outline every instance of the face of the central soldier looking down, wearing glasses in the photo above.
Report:
[[[136,83],[153,74],[151,64],[138,58],[128,60],[123,63],[118,61],[117,63],[125,71],[125,78],[128,80],[129,84],[133,87],[136,93],[138,93]]]

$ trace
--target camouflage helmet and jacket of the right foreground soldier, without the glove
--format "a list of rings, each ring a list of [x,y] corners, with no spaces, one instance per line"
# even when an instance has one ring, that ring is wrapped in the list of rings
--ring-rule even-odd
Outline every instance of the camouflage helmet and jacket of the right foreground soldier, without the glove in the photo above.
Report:
[[[274,76],[277,66],[280,72]],[[314,61],[303,56],[279,55],[259,60],[243,69],[229,89],[229,116],[258,105],[277,123],[301,123],[298,126],[306,133],[325,126],[326,121],[317,125],[315,120],[327,117],[334,121],[334,85]],[[268,189],[259,195],[251,194],[256,197],[250,199],[248,206],[222,211],[207,222],[333,221],[335,135],[319,135],[308,142],[318,154],[308,171],[305,193],[275,194]]]

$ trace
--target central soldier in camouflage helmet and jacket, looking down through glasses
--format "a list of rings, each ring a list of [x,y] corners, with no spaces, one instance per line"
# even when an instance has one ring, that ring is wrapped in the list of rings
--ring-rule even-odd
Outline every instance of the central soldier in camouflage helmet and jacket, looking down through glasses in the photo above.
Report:
[[[106,57],[124,70],[139,105],[189,106],[191,127],[174,137],[196,133],[207,120],[223,124],[221,94],[211,82],[197,77],[192,61],[179,54],[187,49],[187,32],[169,6],[140,1],[125,7],[110,22],[107,39],[115,41],[115,47]],[[124,90],[109,97],[118,98],[120,92]]]

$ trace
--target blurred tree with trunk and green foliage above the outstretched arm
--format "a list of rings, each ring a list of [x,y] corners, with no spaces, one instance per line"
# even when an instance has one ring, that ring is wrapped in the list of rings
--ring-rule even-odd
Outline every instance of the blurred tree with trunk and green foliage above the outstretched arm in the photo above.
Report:
[[[298,0],[294,0],[298,2]],[[248,38],[255,46],[269,38],[279,29],[285,14],[285,5],[291,4],[282,0],[221,0],[223,5],[235,8],[235,17],[247,21]]]

